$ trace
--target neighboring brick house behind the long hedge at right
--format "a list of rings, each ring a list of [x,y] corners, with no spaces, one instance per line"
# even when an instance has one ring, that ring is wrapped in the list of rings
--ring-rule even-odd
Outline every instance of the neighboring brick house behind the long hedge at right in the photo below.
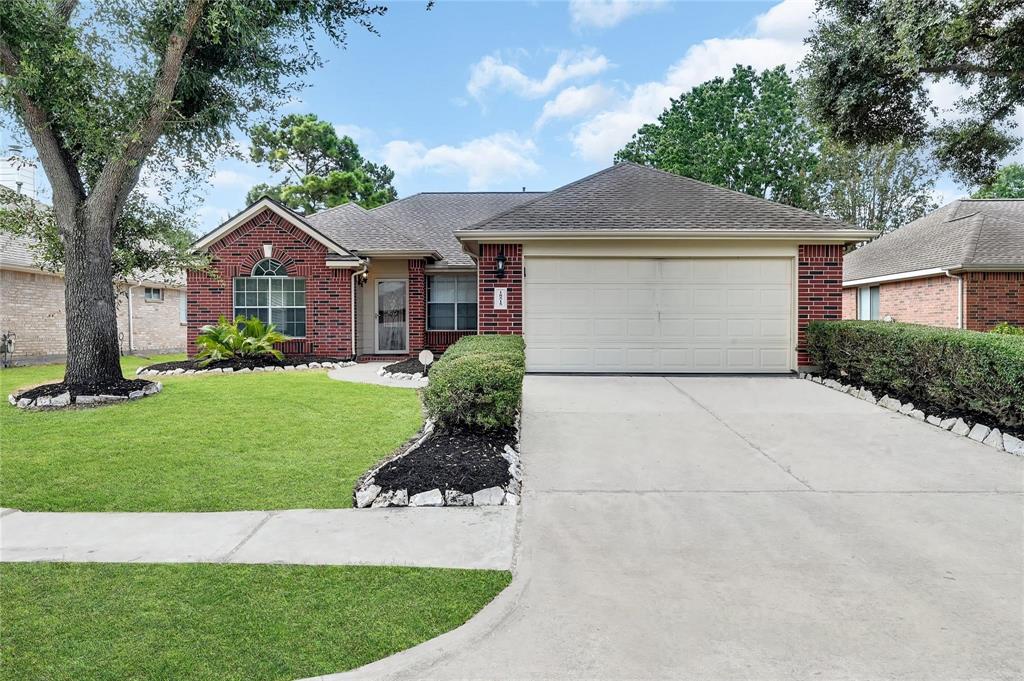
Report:
[[[1024,200],[954,201],[846,255],[843,316],[1024,325]]]

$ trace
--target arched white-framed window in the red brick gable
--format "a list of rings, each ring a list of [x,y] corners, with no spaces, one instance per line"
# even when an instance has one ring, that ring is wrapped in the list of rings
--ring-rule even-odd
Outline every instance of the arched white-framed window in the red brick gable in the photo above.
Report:
[[[252,276],[234,278],[234,316],[255,316],[292,338],[306,335],[306,280],[288,276],[276,260],[253,266]]]

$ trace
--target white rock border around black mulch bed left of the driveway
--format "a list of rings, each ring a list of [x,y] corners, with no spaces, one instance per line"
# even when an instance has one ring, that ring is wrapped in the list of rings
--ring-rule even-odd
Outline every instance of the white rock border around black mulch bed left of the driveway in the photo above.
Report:
[[[384,466],[416,452],[434,432],[434,424],[427,421],[422,434],[404,452],[388,459],[367,473],[355,487],[356,508],[385,508],[396,506],[516,506],[522,493],[522,460],[519,456],[519,419],[516,418],[515,446],[505,445],[502,457],[509,464],[509,481],[504,486],[487,487],[472,494],[457,490],[428,490],[409,495],[408,490],[382,490],[374,476]]]

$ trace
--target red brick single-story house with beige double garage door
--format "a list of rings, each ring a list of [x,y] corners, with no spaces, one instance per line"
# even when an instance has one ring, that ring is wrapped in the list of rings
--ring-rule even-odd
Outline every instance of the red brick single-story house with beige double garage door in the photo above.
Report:
[[[263,199],[196,242],[188,340],[256,314],[286,352],[359,358],[522,334],[531,372],[775,373],[842,314],[871,236],[632,163],[550,193],[418,194],[301,216]]]

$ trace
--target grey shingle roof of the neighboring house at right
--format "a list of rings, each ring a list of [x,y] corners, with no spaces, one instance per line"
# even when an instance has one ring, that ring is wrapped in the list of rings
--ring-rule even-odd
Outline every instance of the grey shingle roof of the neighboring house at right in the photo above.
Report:
[[[1024,268],[1024,199],[947,204],[848,253],[843,280],[972,268]]]

